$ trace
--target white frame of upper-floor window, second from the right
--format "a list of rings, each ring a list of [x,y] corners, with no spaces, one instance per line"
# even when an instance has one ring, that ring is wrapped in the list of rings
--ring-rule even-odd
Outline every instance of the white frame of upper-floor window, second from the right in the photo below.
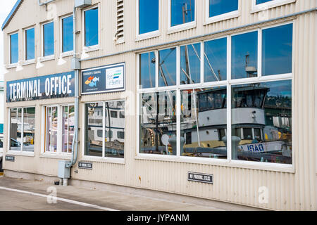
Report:
[[[220,15],[215,15],[212,17],[209,17],[209,0],[205,0],[205,8],[206,8],[206,15],[205,15],[205,22],[204,25],[209,25],[211,23],[216,23],[221,20],[229,20],[232,18],[240,17],[241,15],[241,8],[242,8],[242,0],[238,0],[238,9],[236,11],[231,11],[228,13],[223,13]]]

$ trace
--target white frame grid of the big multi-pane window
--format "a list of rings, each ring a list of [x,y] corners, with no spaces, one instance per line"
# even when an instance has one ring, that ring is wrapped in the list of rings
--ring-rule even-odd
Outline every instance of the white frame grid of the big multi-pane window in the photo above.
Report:
[[[249,32],[258,31],[258,70],[261,69],[262,65],[262,30],[269,29],[271,27],[279,27],[282,25],[292,24],[293,25],[293,31],[292,31],[292,73],[286,74],[286,75],[270,75],[270,76],[261,76],[261,72],[258,73],[257,77],[251,77],[251,78],[242,78],[242,79],[231,79],[231,37],[238,35],[238,34],[245,34]],[[239,168],[247,168],[247,169],[260,169],[260,170],[268,170],[268,171],[277,171],[277,172],[289,172],[294,173],[295,169],[295,158],[297,158],[297,153],[295,150],[294,145],[294,139],[292,140],[292,164],[281,164],[281,163],[273,163],[273,162],[253,162],[253,161],[244,161],[244,160],[232,160],[232,146],[231,141],[228,141],[227,143],[227,159],[214,159],[214,158],[195,158],[195,157],[189,157],[189,156],[182,156],[180,155],[180,91],[186,90],[186,89],[199,89],[199,88],[206,88],[206,87],[216,87],[216,86],[225,86],[227,88],[227,128],[226,132],[228,136],[231,137],[231,127],[232,127],[232,108],[231,108],[231,89],[232,85],[238,85],[238,84],[253,84],[253,83],[261,83],[261,82],[278,82],[283,80],[290,80],[292,82],[292,114],[294,115],[294,108],[295,108],[295,86],[294,86],[294,49],[295,49],[295,29],[296,28],[296,21],[290,20],[284,23],[276,23],[274,25],[267,25],[263,26],[261,28],[257,29],[250,29],[250,30],[244,30],[243,32],[237,32],[232,33],[228,35],[223,35],[222,37],[217,37],[214,39],[222,39],[224,37],[227,37],[227,79],[220,82],[208,82],[204,83],[204,79],[201,79],[201,83],[199,84],[186,84],[186,85],[180,85],[180,51],[178,50],[177,54],[177,85],[172,86],[172,88],[168,87],[156,87],[150,88],[150,89],[140,89],[139,88],[139,55],[142,53],[149,53],[152,51],[144,51],[137,53],[137,141],[136,141],[136,152],[135,152],[135,159],[136,160],[159,160],[159,161],[169,161],[169,162],[189,162],[189,163],[198,163],[203,165],[220,165],[225,167],[239,167]],[[204,41],[201,41],[202,43],[206,41],[211,41],[214,39],[206,39]],[[187,43],[187,44],[194,44],[194,43]],[[177,46],[170,46],[170,48],[176,47],[177,49],[180,48],[180,46],[183,46],[186,44],[178,44]],[[158,51],[162,49],[156,49],[156,54]],[[201,46],[201,51],[204,52],[204,44]],[[204,61],[204,60],[202,60]],[[157,63],[158,60],[156,60],[156,79],[158,76],[158,68]],[[203,63],[204,65],[204,63]],[[261,70],[259,70],[261,71]],[[204,77],[204,70],[201,70],[201,74]],[[139,127],[140,127],[140,102],[142,100],[142,94],[147,93],[153,93],[157,91],[176,91],[176,108],[177,108],[177,154],[176,155],[154,155],[154,154],[144,154],[140,153],[140,146],[139,146]],[[296,126],[297,122],[293,120],[292,124],[292,134],[294,134],[294,127]],[[262,135],[262,131],[261,131]],[[294,137],[294,136],[293,136]]]

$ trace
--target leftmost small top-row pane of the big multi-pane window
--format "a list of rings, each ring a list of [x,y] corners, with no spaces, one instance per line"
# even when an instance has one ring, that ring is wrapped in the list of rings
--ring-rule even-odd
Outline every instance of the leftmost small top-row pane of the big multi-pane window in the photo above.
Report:
[[[142,89],[155,87],[154,51],[139,55],[139,85]]]

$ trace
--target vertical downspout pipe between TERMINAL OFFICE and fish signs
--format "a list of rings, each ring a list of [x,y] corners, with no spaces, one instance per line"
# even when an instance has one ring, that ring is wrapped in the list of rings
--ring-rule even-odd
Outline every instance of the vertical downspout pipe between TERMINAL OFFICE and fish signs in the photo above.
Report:
[[[76,37],[76,7],[74,6],[73,11],[73,68],[75,70],[75,130],[73,136],[73,145],[72,145],[72,160],[66,163],[66,167],[70,168],[77,162],[78,155],[78,112],[79,112],[79,74],[80,74],[80,62],[77,58],[77,37]],[[77,64],[78,62],[79,64]]]

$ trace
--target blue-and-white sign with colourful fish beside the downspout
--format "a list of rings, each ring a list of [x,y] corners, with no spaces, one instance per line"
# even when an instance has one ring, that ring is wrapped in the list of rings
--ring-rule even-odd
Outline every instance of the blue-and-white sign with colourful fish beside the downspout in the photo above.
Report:
[[[82,70],[82,94],[125,90],[125,63]]]

